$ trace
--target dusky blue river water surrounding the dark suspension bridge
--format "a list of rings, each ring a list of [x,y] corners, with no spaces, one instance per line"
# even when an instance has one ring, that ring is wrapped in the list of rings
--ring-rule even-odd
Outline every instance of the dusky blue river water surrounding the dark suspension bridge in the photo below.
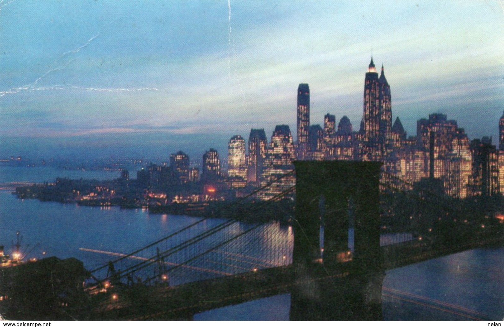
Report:
[[[0,167],[0,184],[53,181],[55,177],[112,179],[119,172],[66,171],[50,167]],[[111,259],[79,250],[119,253],[140,248],[198,218],[151,214],[142,210],[79,207],[75,204],[19,200],[0,191],[0,244],[11,250],[16,231],[30,257],[76,257],[88,269]],[[210,219],[205,228],[223,220]],[[288,227],[272,224],[277,235]],[[268,258],[270,259],[270,258]],[[504,318],[504,246],[468,250],[387,271],[383,288],[385,320],[502,320]],[[195,315],[195,320],[288,320],[290,295],[282,294]]]

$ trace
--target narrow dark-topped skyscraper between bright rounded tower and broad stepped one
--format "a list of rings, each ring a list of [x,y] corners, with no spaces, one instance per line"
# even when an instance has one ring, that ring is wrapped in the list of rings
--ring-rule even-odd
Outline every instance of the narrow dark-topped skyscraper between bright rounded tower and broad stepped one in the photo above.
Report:
[[[248,137],[247,180],[255,183],[261,179],[268,140],[264,129],[250,129]]]

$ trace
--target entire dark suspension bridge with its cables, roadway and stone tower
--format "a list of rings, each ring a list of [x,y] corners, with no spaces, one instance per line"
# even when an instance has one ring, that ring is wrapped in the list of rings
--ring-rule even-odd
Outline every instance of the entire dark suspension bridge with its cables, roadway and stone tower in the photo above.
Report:
[[[290,293],[291,320],[381,320],[388,270],[502,244],[497,219],[483,217],[486,226],[480,220],[469,226],[460,208],[436,202],[429,190],[410,204],[429,207],[436,225],[396,223],[390,234],[383,193],[389,188],[396,199],[401,190],[380,178],[382,163],[294,166],[295,186],[258,204],[268,206],[295,190],[294,214],[277,222],[289,226],[290,237],[270,235],[279,229],[264,228],[250,212],[245,221],[212,227],[202,218],[129,254],[83,248],[115,259],[87,274],[80,282],[86,300],[70,305],[98,320],[191,320],[206,310]]]

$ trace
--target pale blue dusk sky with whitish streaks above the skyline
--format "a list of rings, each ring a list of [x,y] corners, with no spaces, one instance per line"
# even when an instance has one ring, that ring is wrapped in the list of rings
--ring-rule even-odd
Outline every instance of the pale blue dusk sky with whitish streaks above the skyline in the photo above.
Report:
[[[358,128],[371,49],[408,135],[417,119],[443,112],[470,138],[496,137],[504,110],[496,0],[6,0],[0,141],[9,151],[23,148],[11,137],[56,148],[149,140],[169,154],[194,140],[224,149],[250,128],[269,138],[287,123],[295,135],[299,83],[310,86],[312,124],[330,112]]]

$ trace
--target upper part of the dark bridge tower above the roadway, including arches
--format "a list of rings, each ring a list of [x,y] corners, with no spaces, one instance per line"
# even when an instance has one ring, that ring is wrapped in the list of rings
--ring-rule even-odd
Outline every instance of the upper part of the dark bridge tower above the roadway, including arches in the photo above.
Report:
[[[353,259],[362,269],[379,268],[382,163],[296,161],[294,166],[293,263],[331,265]]]

